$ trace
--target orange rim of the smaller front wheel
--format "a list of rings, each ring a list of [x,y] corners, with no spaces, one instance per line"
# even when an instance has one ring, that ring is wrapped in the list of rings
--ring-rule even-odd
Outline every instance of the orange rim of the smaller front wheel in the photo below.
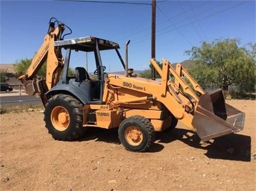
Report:
[[[126,141],[133,146],[138,146],[143,140],[142,131],[136,126],[127,127],[124,132],[124,137],[126,138]]]

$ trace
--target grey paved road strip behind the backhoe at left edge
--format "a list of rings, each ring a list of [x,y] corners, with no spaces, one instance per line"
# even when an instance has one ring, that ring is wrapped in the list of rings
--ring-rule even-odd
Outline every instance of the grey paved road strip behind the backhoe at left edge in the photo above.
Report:
[[[1,92],[0,94],[0,105],[20,104],[20,102],[22,102],[22,104],[40,104],[41,99],[26,95],[24,92]]]

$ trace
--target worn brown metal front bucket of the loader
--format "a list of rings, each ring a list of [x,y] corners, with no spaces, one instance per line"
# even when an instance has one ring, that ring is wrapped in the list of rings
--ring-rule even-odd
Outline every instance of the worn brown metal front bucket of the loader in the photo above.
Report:
[[[222,89],[200,96],[192,125],[202,141],[243,129],[245,113],[225,103]]]

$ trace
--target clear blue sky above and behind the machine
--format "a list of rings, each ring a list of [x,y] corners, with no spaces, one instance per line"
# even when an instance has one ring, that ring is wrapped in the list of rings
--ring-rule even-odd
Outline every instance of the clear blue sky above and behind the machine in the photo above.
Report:
[[[120,44],[123,59],[124,45],[130,40],[129,67],[148,69],[151,0],[114,2],[0,1],[0,63],[31,59],[43,43],[49,19],[55,17],[72,29],[72,34],[66,39],[94,36],[114,41]],[[185,51],[200,47],[203,41],[212,43],[216,39],[239,38],[240,46],[255,43],[255,2],[156,1],[156,60],[164,58],[171,63],[182,62],[189,59]],[[69,31],[66,29],[66,32]],[[91,56],[90,53],[76,56],[72,66],[87,62],[89,70],[93,71],[95,64],[88,62]],[[123,71],[112,52],[103,55],[102,62],[107,72]]]

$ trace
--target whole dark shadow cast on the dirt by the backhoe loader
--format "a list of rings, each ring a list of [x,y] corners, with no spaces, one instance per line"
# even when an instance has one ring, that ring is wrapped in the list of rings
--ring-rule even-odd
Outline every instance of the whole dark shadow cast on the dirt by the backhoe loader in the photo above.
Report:
[[[121,144],[118,139],[118,128],[88,128],[78,141],[91,140]],[[171,132],[156,132],[156,141],[147,152],[157,153],[165,148],[161,143],[177,140],[190,147],[206,150],[206,156],[211,159],[251,161],[251,137],[249,136],[230,134],[202,143],[195,132],[180,128],[175,128]]]

